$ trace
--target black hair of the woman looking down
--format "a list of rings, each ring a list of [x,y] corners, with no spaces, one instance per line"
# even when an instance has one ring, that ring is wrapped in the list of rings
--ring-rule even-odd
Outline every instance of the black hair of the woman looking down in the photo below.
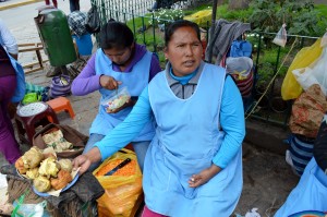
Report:
[[[101,27],[100,32],[100,48],[126,48],[134,43],[134,34],[124,23],[109,21]]]

